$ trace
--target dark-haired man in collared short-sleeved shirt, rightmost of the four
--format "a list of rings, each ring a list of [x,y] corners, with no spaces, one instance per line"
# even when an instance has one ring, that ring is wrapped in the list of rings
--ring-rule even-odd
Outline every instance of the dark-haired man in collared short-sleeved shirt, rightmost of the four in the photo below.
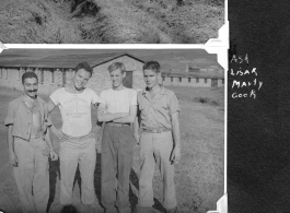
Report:
[[[138,93],[140,126],[135,121],[134,137],[140,143],[141,171],[136,212],[153,212],[152,180],[156,163],[163,180],[163,206],[177,212],[174,185],[174,162],[181,158],[179,106],[175,94],[159,84],[160,64],[143,66],[146,90]],[[140,133],[140,134],[139,134]]]

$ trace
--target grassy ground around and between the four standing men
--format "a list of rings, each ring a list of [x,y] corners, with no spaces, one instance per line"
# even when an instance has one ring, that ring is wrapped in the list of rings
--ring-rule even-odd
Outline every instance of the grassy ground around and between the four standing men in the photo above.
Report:
[[[7,128],[3,125],[8,103],[20,96],[20,92],[0,90],[0,209],[8,213],[18,213],[20,199],[15,186],[12,166],[9,164]],[[199,94],[199,96],[201,96]],[[178,96],[177,96],[178,97]],[[46,97],[44,97],[46,98]],[[216,202],[223,194],[224,174],[224,113],[223,106],[211,106],[186,99],[179,100],[182,130],[182,159],[175,166],[175,185],[179,212],[205,213],[216,210]],[[95,109],[93,109],[95,123]],[[58,110],[53,113],[57,127],[61,126]],[[59,141],[53,135],[58,152]],[[101,154],[95,167],[95,210],[103,212],[101,200]],[[135,162],[130,176],[130,203],[135,209],[138,198],[139,147],[135,147]],[[49,162],[50,198],[49,212],[60,212],[59,203],[59,162]],[[80,202],[80,176],[76,176],[73,204],[79,212],[89,212]],[[162,182],[156,170],[153,179],[155,212],[164,212],[162,206]]]

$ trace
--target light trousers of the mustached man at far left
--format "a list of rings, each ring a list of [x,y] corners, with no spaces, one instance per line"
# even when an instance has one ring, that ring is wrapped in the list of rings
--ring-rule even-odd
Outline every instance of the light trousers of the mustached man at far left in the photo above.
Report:
[[[49,199],[48,155],[43,139],[30,142],[14,138],[14,152],[19,164],[14,177],[23,213],[45,213]]]

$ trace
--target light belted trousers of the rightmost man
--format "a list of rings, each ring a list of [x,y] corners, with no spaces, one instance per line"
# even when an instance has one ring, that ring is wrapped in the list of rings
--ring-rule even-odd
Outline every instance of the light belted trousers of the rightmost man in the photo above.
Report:
[[[152,206],[154,166],[158,165],[163,180],[163,206],[173,209],[177,205],[174,185],[174,165],[170,161],[173,150],[172,132],[146,133],[140,137],[141,171],[139,178],[140,206]]]

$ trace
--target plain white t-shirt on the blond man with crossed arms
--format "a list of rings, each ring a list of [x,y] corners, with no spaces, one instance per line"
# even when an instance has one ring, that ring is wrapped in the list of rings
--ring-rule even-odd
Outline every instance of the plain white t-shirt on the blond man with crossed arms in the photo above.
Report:
[[[98,103],[104,104],[111,114],[129,113],[130,106],[137,105],[137,91],[132,88],[105,90],[102,91]]]

